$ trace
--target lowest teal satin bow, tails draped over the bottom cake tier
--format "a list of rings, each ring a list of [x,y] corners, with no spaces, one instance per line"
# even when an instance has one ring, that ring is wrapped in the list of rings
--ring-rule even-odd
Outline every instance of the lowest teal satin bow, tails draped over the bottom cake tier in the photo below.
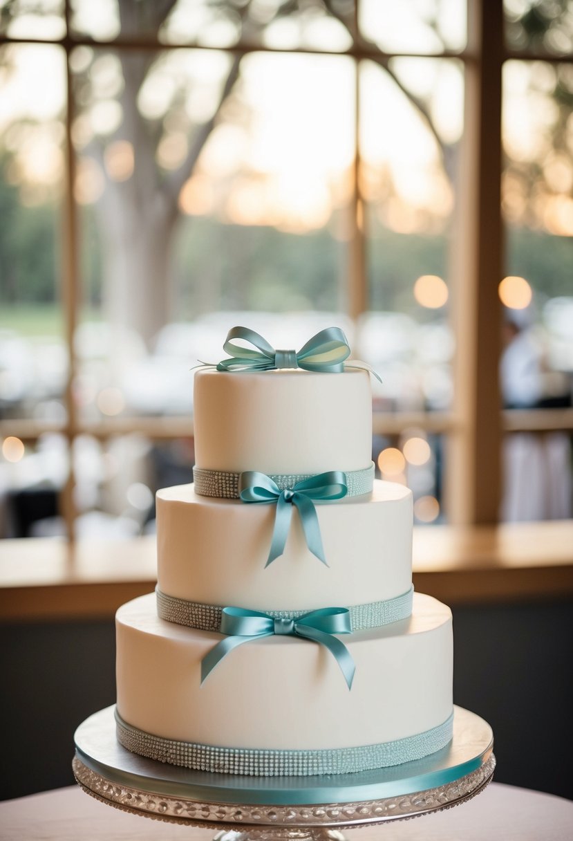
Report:
[[[339,664],[346,685],[350,689],[355,674],[355,662],[344,643],[335,633],[351,633],[350,613],[346,607],[323,607],[310,611],[297,619],[274,619],[267,613],[246,611],[241,607],[225,607],[221,616],[221,633],[225,639],[209,651],[201,661],[201,683],[208,678],[216,665],[234,648],[253,639],[284,634],[302,637],[320,643],[333,654]]]

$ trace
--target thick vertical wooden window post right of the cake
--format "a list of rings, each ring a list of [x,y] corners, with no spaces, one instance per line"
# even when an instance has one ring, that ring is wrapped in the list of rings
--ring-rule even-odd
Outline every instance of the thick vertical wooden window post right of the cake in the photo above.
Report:
[[[495,523],[501,486],[502,418],[498,386],[502,277],[502,0],[468,3],[465,130],[460,155],[453,300],[455,415],[448,447],[449,521]]]

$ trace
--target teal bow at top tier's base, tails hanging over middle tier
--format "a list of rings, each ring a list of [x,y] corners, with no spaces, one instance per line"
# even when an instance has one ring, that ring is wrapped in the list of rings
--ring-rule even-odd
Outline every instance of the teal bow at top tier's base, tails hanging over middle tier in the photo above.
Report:
[[[239,496],[243,502],[276,504],[275,526],[272,532],[271,549],[265,563],[268,567],[285,551],[286,537],[291,525],[292,506],[298,509],[302,531],[310,551],[328,567],[324,557],[323,541],[313,500],[341,500],[348,493],[346,476],[342,470],[318,473],[310,479],[302,479],[291,489],[281,490],[265,473],[247,470],[239,477]]]

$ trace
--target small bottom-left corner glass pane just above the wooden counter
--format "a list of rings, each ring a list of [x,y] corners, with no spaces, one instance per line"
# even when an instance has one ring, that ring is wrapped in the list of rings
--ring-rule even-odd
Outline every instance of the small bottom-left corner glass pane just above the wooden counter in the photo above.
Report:
[[[35,445],[16,436],[0,439],[0,537],[66,534],[60,494],[68,475],[66,438],[40,436]]]

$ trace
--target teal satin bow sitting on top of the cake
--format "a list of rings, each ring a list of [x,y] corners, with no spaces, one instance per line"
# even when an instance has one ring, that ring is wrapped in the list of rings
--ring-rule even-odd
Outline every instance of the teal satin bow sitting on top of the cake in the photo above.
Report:
[[[232,339],[243,339],[254,345],[235,345]],[[307,371],[344,371],[344,359],[350,357],[350,346],[339,327],[327,327],[313,336],[300,351],[276,351],[259,333],[247,327],[233,327],[223,345],[230,359],[218,363],[218,371],[270,371],[273,368],[304,368]]]

